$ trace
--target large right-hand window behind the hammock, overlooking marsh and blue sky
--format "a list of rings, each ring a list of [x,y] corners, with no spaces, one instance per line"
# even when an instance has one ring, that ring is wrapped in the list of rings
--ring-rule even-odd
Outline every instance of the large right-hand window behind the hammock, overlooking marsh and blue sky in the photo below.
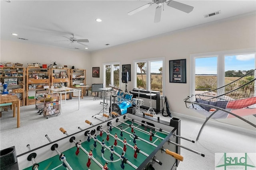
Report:
[[[202,88],[220,88],[255,68],[254,50],[190,55],[190,94]]]

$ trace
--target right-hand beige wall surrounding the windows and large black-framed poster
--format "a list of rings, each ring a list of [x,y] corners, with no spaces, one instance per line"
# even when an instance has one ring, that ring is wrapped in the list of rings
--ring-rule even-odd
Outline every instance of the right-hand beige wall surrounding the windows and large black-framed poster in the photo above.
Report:
[[[165,95],[168,98],[171,111],[205,119],[205,117],[199,115],[192,109],[187,109],[183,102],[183,99],[190,95],[190,54],[235,49],[255,49],[255,47],[256,17],[250,16],[236,20],[222,21],[211,25],[208,24],[202,27],[198,26],[159,37],[96,51],[92,53],[92,65],[102,66],[96,61],[102,61],[102,63],[120,61],[121,64],[132,64],[133,71],[133,60],[165,57]],[[175,59],[187,60],[186,84],[169,83],[169,60]],[[100,74],[102,75],[102,69]],[[133,72],[131,74],[133,75]],[[100,83],[100,80],[98,80],[97,83]],[[129,82],[127,85],[128,91],[132,90],[133,82]],[[125,86],[122,85],[121,88],[124,90]],[[246,117],[246,119],[256,123],[256,119],[253,116]],[[221,121],[239,124],[241,127],[248,129],[254,129],[252,126],[238,119]]]

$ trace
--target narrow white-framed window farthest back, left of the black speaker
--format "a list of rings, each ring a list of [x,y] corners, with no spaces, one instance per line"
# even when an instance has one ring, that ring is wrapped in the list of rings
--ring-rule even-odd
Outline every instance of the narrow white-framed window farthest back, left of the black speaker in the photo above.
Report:
[[[104,68],[104,87],[113,86],[120,87],[120,63],[106,63]]]

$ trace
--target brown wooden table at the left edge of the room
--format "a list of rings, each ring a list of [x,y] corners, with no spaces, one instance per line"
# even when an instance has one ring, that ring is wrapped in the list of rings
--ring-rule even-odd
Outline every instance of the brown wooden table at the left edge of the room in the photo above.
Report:
[[[17,107],[17,127],[20,127],[20,99],[16,95],[0,96],[0,104],[12,103],[13,117],[16,117]]]

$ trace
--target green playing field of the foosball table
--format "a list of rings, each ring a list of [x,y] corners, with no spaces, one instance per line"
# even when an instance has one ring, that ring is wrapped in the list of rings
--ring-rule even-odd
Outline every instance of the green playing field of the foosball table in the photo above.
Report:
[[[112,131],[110,131],[111,135],[115,135],[115,133],[117,133],[118,135],[118,139],[121,139],[122,141],[124,140],[124,138],[126,138],[126,141],[128,144],[132,145],[132,147],[134,146],[134,137],[132,132],[131,132],[131,127],[129,127],[128,124],[131,124],[131,121],[126,121],[125,124],[121,123],[120,125],[118,125],[118,128],[120,128],[122,126],[123,128],[123,136],[120,136],[120,129],[117,129],[115,127],[112,127]],[[136,169],[135,167],[140,166],[140,164],[147,158],[147,156],[152,152],[152,150],[156,149],[155,145],[159,145],[163,138],[165,138],[167,136],[167,134],[164,133],[160,133],[160,132],[156,132],[156,131],[152,131],[152,133],[155,134],[154,137],[152,137],[152,141],[150,141],[150,135],[149,135],[149,131],[150,129],[146,129],[147,132],[145,132],[144,127],[133,123],[134,127],[137,127],[141,130],[135,129],[134,131],[136,132],[136,135],[146,141],[148,141],[149,143],[152,143],[152,145],[150,145],[149,143],[146,143],[140,139],[136,139],[136,144],[138,149],[140,149],[142,152],[146,153],[146,154],[142,154],[141,152],[137,153],[137,158],[134,158],[134,149],[132,147],[129,147],[128,145],[126,145],[126,152],[124,152],[123,148],[124,148],[124,144],[122,143],[122,141],[117,140],[117,145],[114,145],[114,137],[112,137],[111,135],[109,135],[109,140],[107,141],[107,135],[106,133],[102,134],[102,137],[100,137],[100,135],[97,135],[97,139],[98,141],[102,142],[102,140],[104,139],[104,143],[106,147],[111,148],[112,145],[114,145],[113,149],[116,153],[118,153],[119,155],[122,155],[122,152],[124,152],[124,157],[126,157],[128,159],[128,161],[130,163],[132,163],[134,166],[131,166],[128,163],[124,163],[124,169],[126,170],[133,170]],[[103,129],[104,131],[107,131],[108,129]],[[131,133],[128,134],[125,131]],[[156,137],[159,136],[160,138]],[[93,135],[94,137],[94,135]],[[92,138],[92,136],[90,137],[90,142],[87,141],[88,136],[84,136],[84,139],[75,139],[77,142],[79,140],[84,141],[82,143],[82,147],[89,152],[92,149],[92,155],[93,157],[102,165],[104,166],[106,162],[108,162],[107,166],[108,169],[110,170],[120,170],[121,168],[121,158],[118,157],[116,154],[113,154],[113,160],[110,159],[111,153],[109,149],[106,149],[106,147],[104,147],[104,153],[102,153],[102,146],[101,143],[99,143],[98,141],[96,142],[96,147],[94,147],[94,139]],[[90,160],[91,164],[89,167],[87,167],[87,162],[88,162],[88,155],[80,148],[79,149],[79,154],[76,155],[76,151],[77,151],[77,147],[74,144],[74,147],[71,149],[68,149],[64,152],[62,152],[65,157],[66,157],[66,161],[68,162],[68,164],[70,165],[70,167],[72,167],[73,170],[102,170],[102,167],[100,167],[98,164],[96,164],[96,162],[94,162],[92,159]],[[52,151],[51,152],[55,152]],[[147,155],[148,154],[148,155]],[[39,169],[40,170],[66,170],[67,168],[65,168],[62,164],[63,162],[60,161],[59,155],[56,155],[52,158],[49,158],[47,160],[44,160],[43,162],[39,162]],[[26,168],[25,170],[31,170],[32,166],[29,168]]]

